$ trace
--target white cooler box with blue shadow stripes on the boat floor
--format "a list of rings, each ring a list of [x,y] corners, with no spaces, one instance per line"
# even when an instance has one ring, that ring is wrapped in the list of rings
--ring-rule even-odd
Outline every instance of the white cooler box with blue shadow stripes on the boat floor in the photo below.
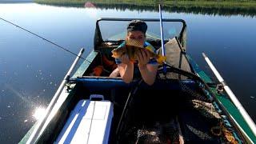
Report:
[[[110,101],[80,100],[54,143],[108,143],[113,116]]]

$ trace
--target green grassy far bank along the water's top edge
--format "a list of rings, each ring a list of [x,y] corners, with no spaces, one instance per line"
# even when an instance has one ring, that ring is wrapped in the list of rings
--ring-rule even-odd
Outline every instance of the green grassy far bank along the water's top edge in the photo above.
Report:
[[[130,0],[123,0],[122,2],[118,0],[112,1],[102,1],[102,0],[94,0],[94,1],[87,1],[87,0],[33,0],[36,3],[42,4],[66,4],[66,5],[82,5],[86,2],[92,2],[95,5],[98,4],[105,4],[105,5],[133,5],[133,6],[158,6],[159,2],[154,2],[150,0],[144,1],[130,1]],[[163,6],[170,7],[201,7],[201,8],[213,8],[213,7],[222,7],[222,8],[251,8],[256,9],[256,1],[234,1],[234,0],[227,0],[227,1],[207,1],[207,0],[199,0],[199,1],[166,1],[163,2]]]

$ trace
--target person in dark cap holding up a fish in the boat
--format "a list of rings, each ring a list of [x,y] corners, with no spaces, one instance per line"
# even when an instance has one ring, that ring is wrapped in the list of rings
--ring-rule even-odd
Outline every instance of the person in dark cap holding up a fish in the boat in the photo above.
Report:
[[[120,54],[119,56],[115,55],[114,58],[115,62],[118,64],[118,68],[110,74],[110,77],[120,75],[122,80],[126,83],[130,83],[133,78],[142,77],[143,81],[148,85],[154,84],[158,71],[158,62],[156,58],[150,57],[152,53],[156,54],[156,51],[149,42],[146,42],[146,30],[146,22],[141,20],[133,20],[128,24],[126,41],[117,48],[119,50],[126,50],[126,53]],[[130,54],[130,46],[126,44],[133,40],[142,43],[142,48],[145,50],[138,50],[133,47],[134,50],[137,51]]]

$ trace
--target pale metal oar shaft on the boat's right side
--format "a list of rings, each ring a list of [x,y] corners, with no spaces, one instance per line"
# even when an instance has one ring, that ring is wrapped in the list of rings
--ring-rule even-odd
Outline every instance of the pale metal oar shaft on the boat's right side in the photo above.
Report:
[[[256,126],[254,121],[250,118],[250,115],[246,112],[242,104],[238,101],[238,98],[234,95],[233,91],[230,90],[230,87],[227,86],[225,80],[222,78],[221,74],[218,73],[218,70],[215,68],[213,63],[210,62],[210,59],[206,56],[206,54],[202,53],[202,56],[205,58],[207,64],[210,66],[210,69],[214,72],[215,76],[218,78],[218,81],[222,84],[224,90],[226,91],[226,94],[229,95],[231,101],[234,103],[234,106],[236,106],[240,111],[240,113],[242,114],[242,117],[245,119],[247,125],[250,127],[250,130],[252,130],[252,132],[256,136]]]

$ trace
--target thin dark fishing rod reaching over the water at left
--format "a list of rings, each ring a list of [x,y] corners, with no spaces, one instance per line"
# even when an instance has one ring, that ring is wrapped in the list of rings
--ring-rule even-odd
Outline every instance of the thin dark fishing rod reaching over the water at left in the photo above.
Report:
[[[26,30],[25,28],[21,27],[21,26],[18,26],[16,24],[14,24],[13,22],[10,22],[10,21],[7,21],[6,19],[4,18],[1,18],[3,21],[5,22],[8,22],[10,23],[11,25],[13,26],[17,26],[18,28],[22,29],[22,30],[25,30],[26,32],[30,33],[30,34],[34,34],[33,32],[31,32],[30,30]],[[74,54],[75,56],[79,57],[79,58],[82,58],[81,56],[78,56],[78,54],[75,54],[74,52],[70,51],[70,50],[67,50],[66,48],[62,47],[62,46],[59,46],[58,44],[54,43],[54,42],[51,42],[50,40],[46,39],[46,38],[43,38],[42,36],[38,35],[38,34],[34,34],[35,36],[37,36],[38,38],[42,38],[42,40],[45,40],[46,42],[50,42],[51,44],[53,44],[54,46],[58,46],[59,48],[61,48],[62,50],[66,50],[67,52],[69,52],[70,54]],[[86,58],[82,58],[83,60],[86,60]],[[88,60],[86,60],[87,62],[90,62]],[[90,62],[91,63],[91,62]]]

